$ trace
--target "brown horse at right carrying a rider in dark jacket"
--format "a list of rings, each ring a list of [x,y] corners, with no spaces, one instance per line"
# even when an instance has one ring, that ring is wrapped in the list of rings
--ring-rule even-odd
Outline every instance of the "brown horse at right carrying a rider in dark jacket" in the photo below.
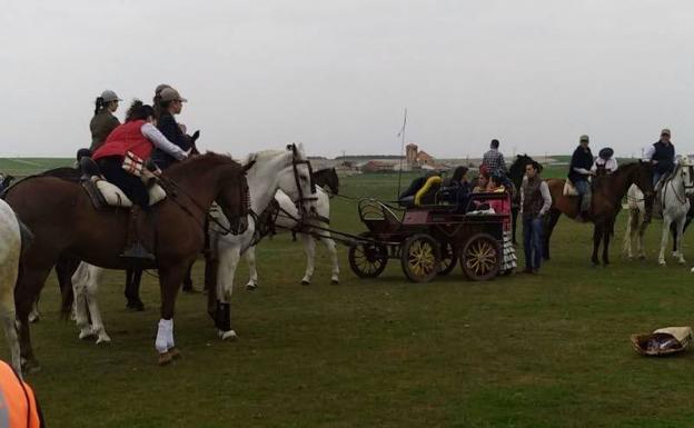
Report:
[[[622,200],[629,186],[636,185],[643,189],[646,196],[646,203],[653,203],[653,168],[648,162],[634,162],[622,165],[615,172],[605,177],[597,177],[594,180],[593,201],[591,215],[587,219],[579,217],[578,197],[564,196],[564,185],[566,180],[548,179],[547,186],[552,193],[552,209],[547,215],[545,223],[544,256],[549,259],[549,239],[552,231],[564,213],[571,219],[587,222],[591,221],[593,229],[593,257],[594,265],[599,265],[597,251],[603,241],[603,263],[609,263],[609,238],[614,232],[614,222],[622,209]]]

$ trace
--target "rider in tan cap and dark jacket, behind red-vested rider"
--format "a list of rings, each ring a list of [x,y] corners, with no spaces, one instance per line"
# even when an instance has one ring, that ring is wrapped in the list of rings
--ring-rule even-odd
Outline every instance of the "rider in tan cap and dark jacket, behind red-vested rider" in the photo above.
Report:
[[[181,127],[176,122],[174,116],[180,115],[184,102],[187,102],[185,98],[178,93],[178,91],[171,87],[162,88],[159,92],[161,108],[161,115],[157,119],[157,128],[161,133],[174,145],[178,146],[182,151],[190,151],[192,145],[190,139],[184,133]],[[165,170],[174,165],[177,159],[160,148],[155,149],[152,153],[152,160],[160,169]]]

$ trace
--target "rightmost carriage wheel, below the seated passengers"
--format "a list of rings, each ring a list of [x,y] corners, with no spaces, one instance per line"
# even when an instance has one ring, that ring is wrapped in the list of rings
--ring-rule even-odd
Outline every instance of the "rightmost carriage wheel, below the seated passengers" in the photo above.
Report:
[[[463,272],[474,281],[486,281],[496,277],[502,268],[502,248],[487,233],[473,236],[460,252]]]

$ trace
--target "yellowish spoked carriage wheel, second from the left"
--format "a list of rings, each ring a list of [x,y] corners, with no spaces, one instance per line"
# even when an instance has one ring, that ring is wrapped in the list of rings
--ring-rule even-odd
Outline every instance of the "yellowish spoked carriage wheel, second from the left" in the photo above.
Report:
[[[403,245],[403,272],[413,282],[428,282],[438,273],[440,248],[429,235],[415,235]]]

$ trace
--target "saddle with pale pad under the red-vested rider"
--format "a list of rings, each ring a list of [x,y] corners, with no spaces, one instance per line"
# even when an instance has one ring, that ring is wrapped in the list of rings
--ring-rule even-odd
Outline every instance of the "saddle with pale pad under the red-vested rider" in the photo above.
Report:
[[[91,158],[80,160],[80,183],[89,196],[96,209],[106,207],[130,208],[132,201],[118,186],[105,180],[97,162]],[[142,169],[142,181],[149,190],[149,205],[155,206],[167,197],[167,192],[156,181],[156,176],[149,169]]]

